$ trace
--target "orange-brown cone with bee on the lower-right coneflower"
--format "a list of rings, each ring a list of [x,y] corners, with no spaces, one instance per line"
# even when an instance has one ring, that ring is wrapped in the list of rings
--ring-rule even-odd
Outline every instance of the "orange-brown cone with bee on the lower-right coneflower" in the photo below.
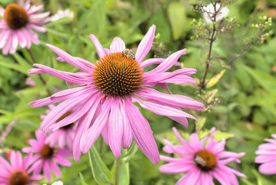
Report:
[[[216,166],[216,157],[208,150],[199,150],[195,154],[194,162],[202,171],[210,171]]]

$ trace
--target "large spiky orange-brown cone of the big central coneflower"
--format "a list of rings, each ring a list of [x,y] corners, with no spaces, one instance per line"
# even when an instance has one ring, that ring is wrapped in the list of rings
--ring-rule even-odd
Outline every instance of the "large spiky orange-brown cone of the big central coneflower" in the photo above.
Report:
[[[106,96],[124,97],[139,88],[142,74],[138,61],[115,52],[99,61],[93,75],[97,88]]]

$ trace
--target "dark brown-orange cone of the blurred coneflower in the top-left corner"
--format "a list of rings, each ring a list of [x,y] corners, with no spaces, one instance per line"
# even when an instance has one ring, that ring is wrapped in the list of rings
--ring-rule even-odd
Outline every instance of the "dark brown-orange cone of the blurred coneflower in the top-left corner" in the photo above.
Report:
[[[10,3],[6,6],[4,19],[10,29],[17,30],[23,26],[26,26],[29,17],[26,10],[22,6],[19,6],[16,3]]]

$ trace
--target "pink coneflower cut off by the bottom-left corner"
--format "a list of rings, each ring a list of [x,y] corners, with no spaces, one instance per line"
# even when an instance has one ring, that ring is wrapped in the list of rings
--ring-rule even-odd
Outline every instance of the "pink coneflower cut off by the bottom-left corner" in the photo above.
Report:
[[[25,157],[19,151],[10,153],[10,163],[0,156],[0,184],[1,185],[34,185],[32,181],[42,179],[42,175],[33,174],[35,166],[32,163],[37,159],[32,154]],[[32,165],[32,166],[31,166]]]

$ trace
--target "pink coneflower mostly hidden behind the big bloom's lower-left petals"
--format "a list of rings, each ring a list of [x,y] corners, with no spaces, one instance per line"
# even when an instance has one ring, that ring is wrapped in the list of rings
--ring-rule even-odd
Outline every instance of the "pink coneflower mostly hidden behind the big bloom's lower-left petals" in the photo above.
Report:
[[[49,108],[50,109],[46,110],[46,114],[50,113],[50,111],[55,108],[55,106],[49,105]],[[69,110],[64,115],[59,117],[56,122],[59,122],[62,119],[68,117],[71,113],[72,111]],[[41,119],[45,119],[46,115],[41,115],[40,117]],[[76,128],[77,124],[72,123],[55,130],[55,132],[50,132],[46,139],[46,143],[49,144],[51,147],[55,147],[56,145],[58,145],[59,148],[63,148],[67,144],[68,148],[72,150]]]

